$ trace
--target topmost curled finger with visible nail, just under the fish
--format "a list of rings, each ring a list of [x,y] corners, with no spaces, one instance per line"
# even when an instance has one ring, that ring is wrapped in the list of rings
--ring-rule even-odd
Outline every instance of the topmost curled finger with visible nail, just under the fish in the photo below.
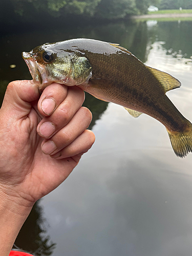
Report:
[[[42,92],[38,101],[38,111],[43,116],[50,116],[57,106],[67,97],[68,87],[53,82]]]

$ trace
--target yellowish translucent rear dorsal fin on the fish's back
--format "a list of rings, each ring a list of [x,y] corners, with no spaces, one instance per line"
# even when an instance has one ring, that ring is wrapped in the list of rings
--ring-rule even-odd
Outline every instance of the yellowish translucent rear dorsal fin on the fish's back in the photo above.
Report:
[[[181,86],[181,82],[172,75],[148,66],[146,66],[146,68],[150,70],[150,72],[153,73],[153,75],[160,81],[165,93]]]

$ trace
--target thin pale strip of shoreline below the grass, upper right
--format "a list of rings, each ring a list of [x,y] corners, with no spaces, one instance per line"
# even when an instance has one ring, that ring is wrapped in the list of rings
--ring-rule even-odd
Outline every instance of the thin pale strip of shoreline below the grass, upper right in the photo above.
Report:
[[[132,19],[142,18],[187,18],[192,17],[192,13],[164,13],[164,14],[145,14],[145,15],[134,15]]]

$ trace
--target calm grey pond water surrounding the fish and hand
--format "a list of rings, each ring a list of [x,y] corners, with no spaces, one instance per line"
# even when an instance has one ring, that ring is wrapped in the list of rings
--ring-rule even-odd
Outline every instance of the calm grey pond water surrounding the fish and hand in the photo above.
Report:
[[[125,47],[182,83],[167,96],[192,121],[192,21],[147,20],[4,33],[1,100],[9,81],[31,79],[22,51],[71,38]],[[10,65],[15,65],[11,68]],[[14,66],[12,66],[14,67]],[[15,245],[34,255],[180,256],[192,250],[192,154],[177,158],[164,126],[86,94],[96,141],[70,177],[39,200]]]

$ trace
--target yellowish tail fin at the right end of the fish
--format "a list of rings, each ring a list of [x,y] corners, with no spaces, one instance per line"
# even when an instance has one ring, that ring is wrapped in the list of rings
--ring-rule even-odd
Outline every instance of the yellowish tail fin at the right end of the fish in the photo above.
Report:
[[[188,120],[187,120],[188,121]],[[182,133],[167,130],[173,150],[178,157],[185,157],[192,152],[192,124],[188,121],[186,130]]]

